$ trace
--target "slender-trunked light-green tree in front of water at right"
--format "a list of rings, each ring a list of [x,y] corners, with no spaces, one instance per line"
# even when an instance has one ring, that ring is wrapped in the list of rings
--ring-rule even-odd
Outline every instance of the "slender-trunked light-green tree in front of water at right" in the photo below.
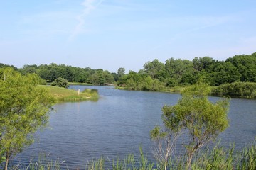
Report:
[[[201,79],[188,87],[175,106],[163,108],[162,120],[167,131],[154,134],[155,137],[163,134],[166,137],[173,132],[188,132],[190,140],[185,144],[187,168],[198,149],[228,128],[228,99],[211,103],[209,93],[210,89]]]

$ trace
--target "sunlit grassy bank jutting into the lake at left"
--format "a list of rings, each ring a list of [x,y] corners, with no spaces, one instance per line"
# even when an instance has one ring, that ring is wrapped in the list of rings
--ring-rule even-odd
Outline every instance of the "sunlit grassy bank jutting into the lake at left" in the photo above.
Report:
[[[50,94],[58,102],[62,101],[97,101],[99,95],[96,89],[85,89],[85,91],[75,91],[73,89],[65,89],[58,86],[42,86],[50,91]]]

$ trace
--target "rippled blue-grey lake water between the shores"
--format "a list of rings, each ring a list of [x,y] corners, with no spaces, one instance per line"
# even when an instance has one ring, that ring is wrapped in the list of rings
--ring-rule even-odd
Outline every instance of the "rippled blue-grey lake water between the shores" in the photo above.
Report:
[[[38,153],[49,154],[69,169],[85,169],[88,160],[139,154],[139,145],[152,159],[149,132],[161,124],[161,108],[177,103],[179,94],[122,91],[109,86],[70,86],[98,89],[98,101],[60,103],[50,113],[50,128],[38,132],[39,141],[18,154],[16,162],[27,164]],[[211,101],[218,97],[210,97]],[[230,100],[230,127],[220,134],[222,145],[235,142],[240,149],[256,136],[256,100]],[[177,147],[181,147],[178,145]]]

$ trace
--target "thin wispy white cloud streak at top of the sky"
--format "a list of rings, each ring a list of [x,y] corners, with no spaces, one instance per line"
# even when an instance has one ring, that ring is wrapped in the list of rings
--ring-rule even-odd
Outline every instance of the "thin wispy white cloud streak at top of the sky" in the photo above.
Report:
[[[82,6],[84,9],[82,10],[82,13],[77,16],[78,24],[75,26],[75,29],[71,33],[68,40],[73,40],[78,34],[83,33],[85,31],[85,17],[91,13],[97,6],[102,4],[103,0],[97,1],[97,0],[85,0],[82,2]]]

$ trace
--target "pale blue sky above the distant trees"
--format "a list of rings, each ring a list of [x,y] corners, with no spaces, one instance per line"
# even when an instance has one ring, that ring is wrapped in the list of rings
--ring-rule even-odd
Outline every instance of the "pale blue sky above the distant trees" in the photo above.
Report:
[[[255,0],[0,0],[0,63],[139,71],[256,52]]]

